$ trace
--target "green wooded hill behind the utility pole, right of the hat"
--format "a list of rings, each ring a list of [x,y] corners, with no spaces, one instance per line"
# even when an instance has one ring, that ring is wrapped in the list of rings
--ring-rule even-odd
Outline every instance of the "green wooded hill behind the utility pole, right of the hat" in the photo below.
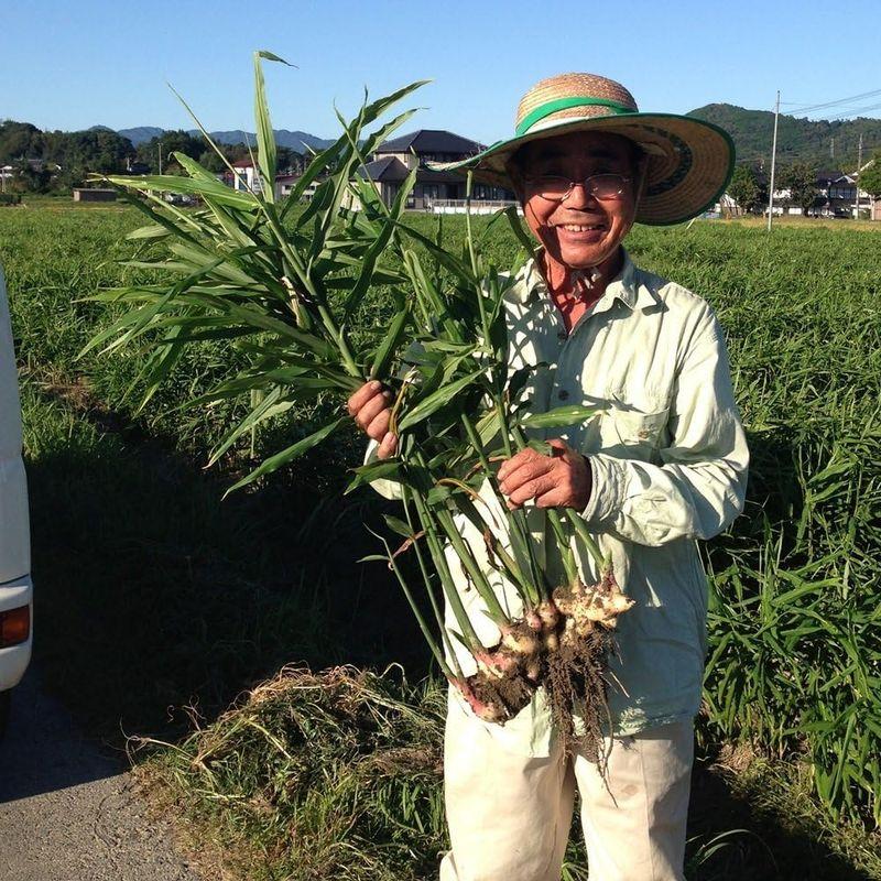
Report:
[[[769,110],[747,110],[731,104],[708,104],[689,110],[687,116],[730,132],[738,162],[768,166],[774,134],[774,115]],[[807,162],[819,168],[851,172],[857,166],[860,134],[862,161],[881,149],[881,119],[811,120],[780,115],[777,123],[777,162]],[[833,140],[834,139],[834,140]]]

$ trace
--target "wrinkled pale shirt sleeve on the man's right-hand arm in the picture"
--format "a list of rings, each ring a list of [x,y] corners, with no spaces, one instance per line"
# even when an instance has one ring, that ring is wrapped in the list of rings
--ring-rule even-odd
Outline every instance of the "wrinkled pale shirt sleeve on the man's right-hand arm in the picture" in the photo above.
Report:
[[[682,356],[660,464],[589,457],[583,516],[597,532],[659,546],[709,539],[743,510],[749,450],[721,328],[707,307]]]

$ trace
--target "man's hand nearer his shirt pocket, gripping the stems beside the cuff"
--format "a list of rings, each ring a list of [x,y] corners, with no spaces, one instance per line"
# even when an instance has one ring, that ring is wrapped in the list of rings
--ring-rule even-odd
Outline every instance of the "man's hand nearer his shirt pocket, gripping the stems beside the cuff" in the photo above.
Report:
[[[499,468],[499,489],[510,509],[535,499],[539,508],[583,511],[590,499],[591,472],[587,459],[564,440],[548,440],[552,456],[522,449]]]

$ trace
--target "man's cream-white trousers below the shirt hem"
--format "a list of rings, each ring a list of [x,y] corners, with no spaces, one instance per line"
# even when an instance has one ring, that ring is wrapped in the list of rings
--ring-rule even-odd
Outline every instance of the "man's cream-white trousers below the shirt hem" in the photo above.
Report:
[[[559,744],[550,758],[500,749],[450,701],[440,881],[559,881],[576,786],[591,881],[682,881],[693,759],[690,719],[613,738],[607,786]]]

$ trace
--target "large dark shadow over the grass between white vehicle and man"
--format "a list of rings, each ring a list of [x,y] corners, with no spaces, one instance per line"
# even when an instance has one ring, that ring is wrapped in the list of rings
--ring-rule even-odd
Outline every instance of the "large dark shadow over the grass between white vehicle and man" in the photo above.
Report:
[[[284,664],[425,672],[391,573],[357,562],[377,550],[370,490],[341,499],[306,461],[224,500],[232,476],[111,414],[74,410],[61,429],[46,407],[69,402],[37,394],[24,409],[41,423],[26,425],[34,656],[90,730],[173,738]]]

